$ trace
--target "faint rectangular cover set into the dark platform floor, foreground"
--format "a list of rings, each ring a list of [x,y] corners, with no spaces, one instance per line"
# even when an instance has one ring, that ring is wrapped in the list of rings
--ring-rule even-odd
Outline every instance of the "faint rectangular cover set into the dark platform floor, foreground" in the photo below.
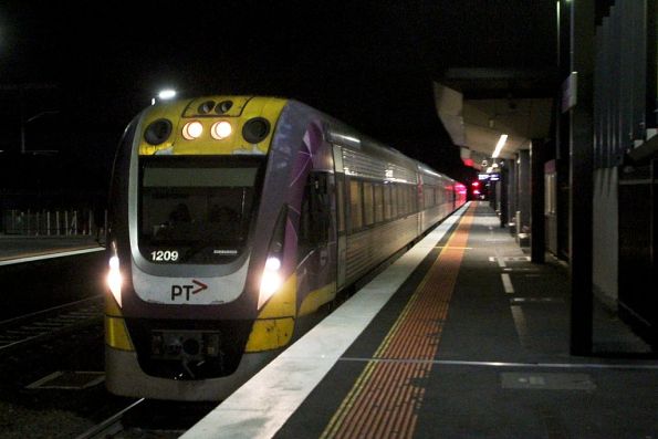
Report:
[[[501,386],[508,389],[596,390],[587,374],[501,373]]]

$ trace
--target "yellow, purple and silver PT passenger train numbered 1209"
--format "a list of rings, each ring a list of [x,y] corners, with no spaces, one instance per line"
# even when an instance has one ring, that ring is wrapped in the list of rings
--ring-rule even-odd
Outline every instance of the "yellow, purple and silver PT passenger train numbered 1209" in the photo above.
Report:
[[[224,399],[466,192],[296,100],[145,108],[112,171],[107,390]]]

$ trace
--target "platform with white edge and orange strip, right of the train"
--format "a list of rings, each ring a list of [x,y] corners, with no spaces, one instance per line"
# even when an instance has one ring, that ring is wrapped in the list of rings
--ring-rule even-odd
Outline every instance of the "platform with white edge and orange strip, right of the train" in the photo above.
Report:
[[[658,438],[658,362],[571,356],[568,290],[471,203],[182,438]]]

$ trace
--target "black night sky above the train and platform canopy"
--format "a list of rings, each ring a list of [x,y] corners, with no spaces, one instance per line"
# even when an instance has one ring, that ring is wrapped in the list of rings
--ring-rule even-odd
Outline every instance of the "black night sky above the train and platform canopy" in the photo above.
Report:
[[[124,127],[163,87],[296,98],[459,177],[431,81],[554,60],[552,0],[87,3],[0,3],[0,161],[20,150],[21,105],[54,111],[25,146],[56,150],[66,187],[106,187]]]

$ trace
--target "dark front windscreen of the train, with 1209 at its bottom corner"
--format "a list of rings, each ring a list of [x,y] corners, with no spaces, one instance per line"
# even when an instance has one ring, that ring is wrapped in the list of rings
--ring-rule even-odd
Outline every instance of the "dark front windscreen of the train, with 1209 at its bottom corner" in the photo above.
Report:
[[[246,248],[264,157],[139,161],[139,251],[154,263],[228,263]]]

